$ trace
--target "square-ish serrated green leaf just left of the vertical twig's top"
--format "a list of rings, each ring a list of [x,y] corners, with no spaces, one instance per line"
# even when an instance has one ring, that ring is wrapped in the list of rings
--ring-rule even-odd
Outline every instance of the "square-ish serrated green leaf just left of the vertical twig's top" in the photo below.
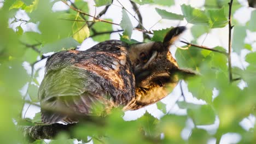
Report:
[[[209,19],[210,28],[225,27],[228,24],[224,8],[208,9],[206,14]]]

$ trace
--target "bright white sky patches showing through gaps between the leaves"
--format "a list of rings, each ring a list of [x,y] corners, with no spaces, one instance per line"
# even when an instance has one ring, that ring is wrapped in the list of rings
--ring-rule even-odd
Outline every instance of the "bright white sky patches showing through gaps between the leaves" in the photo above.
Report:
[[[1,0],[0,0],[1,1]],[[94,1],[88,0],[86,1],[89,3],[90,9],[90,14],[94,15],[95,14],[95,7],[94,7]],[[127,0],[120,0],[124,7],[128,9],[132,14],[135,14],[135,12],[132,10],[131,4]],[[245,23],[250,19],[251,17],[251,11],[253,10],[252,8],[248,7],[248,3],[246,0],[240,0],[239,1],[243,7],[238,9],[233,17],[233,19],[236,19],[238,22],[240,22],[241,25],[245,25]],[[159,5],[141,5],[139,7],[139,11],[142,14],[143,17],[143,26],[146,27],[146,29],[150,30],[156,30],[156,29],[162,29],[162,28],[168,28],[171,26],[187,26],[188,29],[192,26],[187,23],[187,21],[171,21],[171,20],[161,20],[161,17],[156,13],[155,8],[161,8],[165,9],[167,11],[170,11],[172,13],[176,14],[182,14],[181,11],[181,4],[191,4],[192,7],[201,7],[204,4],[203,0],[191,0],[189,1],[175,1],[175,5],[172,5],[171,7],[161,7]],[[1,8],[1,3],[0,3],[0,8]],[[96,13],[100,13],[100,11],[104,7],[99,7],[96,8]],[[68,9],[67,5],[63,4],[62,2],[56,2],[53,6],[54,11],[58,10],[65,10]],[[120,23],[121,21],[121,7],[120,4],[117,1],[114,1],[113,5],[110,6],[108,9],[106,15],[103,15],[101,18],[102,19],[113,19],[113,22],[115,23]],[[138,25],[138,22],[131,16],[130,19],[133,23],[133,27],[136,27]],[[27,14],[23,10],[19,10],[18,13],[16,14],[16,17],[18,19],[24,19],[24,20],[29,20],[30,18],[27,16]],[[161,21],[159,21],[161,20]],[[11,19],[9,20],[11,22]],[[156,25],[155,25],[156,24]],[[16,22],[10,25],[10,27],[13,27],[15,29],[16,26],[20,25],[20,23]],[[22,24],[21,27],[24,29],[24,31],[35,31],[39,32],[39,29],[37,28],[39,23],[27,23],[26,25]],[[113,29],[121,29],[119,26],[113,25]],[[190,31],[186,31],[182,36],[181,39],[185,39],[186,41],[192,40],[192,35]],[[119,33],[113,33],[110,35],[110,39],[119,39]],[[136,39],[138,41],[142,41],[142,33],[138,31],[133,31],[132,33],[132,39]],[[247,31],[247,38],[245,39],[246,43],[252,43],[252,41],[256,41],[256,32],[252,33]],[[215,46],[223,46],[225,49],[228,48],[228,27],[226,26],[225,28],[216,28],[212,29],[211,33],[208,34],[203,34],[198,40],[198,44],[205,45],[207,47],[215,47]],[[97,44],[97,42],[93,41],[91,38],[86,39],[83,44],[80,46],[79,50],[86,50],[89,49],[91,46],[94,46]],[[177,46],[182,46],[184,44],[177,42],[175,45],[171,47],[171,52],[172,55],[174,56],[174,53],[176,51]],[[253,50],[256,50],[256,43],[253,44]],[[232,65],[237,66],[242,68],[246,67],[248,64],[245,62],[245,55],[249,51],[247,50],[242,50],[241,56],[238,56],[236,53],[232,53]],[[52,53],[51,53],[52,54]],[[39,57],[38,57],[39,59]],[[35,69],[39,69],[44,67],[46,62],[46,59],[43,61],[37,63],[35,65]],[[25,68],[27,69],[28,73],[31,73],[31,67],[30,65],[25,62],[24,63]],[[38,81],[41,82],[44,76],[44,68],[39,70],[39,77],[37,77]],[[193,98],[190,92],[188,92],[187,84],[183,81],[181,82],[185,100],[189,103],[195,103],[195,104],[205,104],[205,101],[203,100],[197,100],[196,98]],[[241,82],[240,87],[243,88],[245,87],[245,82]],[[26,90],[27,85],[23,88],[22,93]],[[213,98],[217,97],[218,91],[217,89],[214,89],[213,91]],[[176,104],[177,100],[184,100],[183,97],[181,97],[181,86],[178,85],[176,88],[174,88],[173,92],[169,94],[166,98],[162,99],[162,103],[166,104],[166,110],[169,113],[175,113],[177,115],[185,115],[187,113],[187,110],[184,109],[179,109],[178,105]],[[28,108],[28,105],[25,105],[24,107],[24,113],[25,110]],[[25,117],[30,117],[33,118],[34,113],[39,112],[40,109],[39,107],[31,105],[26,112]],[[126,121],[131,121],[134,119],[137,119],[141,117],[146,111],[148,111],[150,114],[152,114],[156,118],[160,118],[161,116],[164,115],[160,110],[157,109],[156,104],[149,105],[147,107],[144,107],[142,109],[136,110],[136,111],[127,111],[125,112],[124,119]],[[241,126],[248,130],[249,128],[252,128],[255,123],[255,117],[254,116],[249,116],[248,118],[243,119],[241,122]],[[206,129],[210,134],[214,134],[218,128],[219,125],[219,119],[216,117],[216,122],[212,125],[203,125],[203,126],[198,126],[199,128]],[[183,139],[188,139],[191,129],[194,128],[194,124],[189,119],[187,121],[187,127],[184,128],[182,131],[182,137]],[[241,136],[235,133],[228,133],[224,134],[222,136],[221,143],[237,143],[241,140]],[[208,141],[209,144],[215,143],[216,139],[211,139]]]

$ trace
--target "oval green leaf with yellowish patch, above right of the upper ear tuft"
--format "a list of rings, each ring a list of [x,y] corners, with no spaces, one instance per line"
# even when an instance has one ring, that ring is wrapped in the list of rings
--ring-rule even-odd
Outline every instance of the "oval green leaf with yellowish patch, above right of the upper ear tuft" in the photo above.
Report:
[[[190,5],[181,5],[182,13],[189,23],[196,25],[209,25],[205,11],[192,8]]]

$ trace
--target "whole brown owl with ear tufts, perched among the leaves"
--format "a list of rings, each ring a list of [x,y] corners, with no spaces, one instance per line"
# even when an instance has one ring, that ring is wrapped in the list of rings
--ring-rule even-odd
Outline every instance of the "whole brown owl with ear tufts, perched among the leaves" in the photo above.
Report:
[[[168,49],[184,30],[171,29],[162,42],[108,40],[86,51],[55,53],[46,62],[38,92],[42,122],[73,123],[75,115],[91,115],[97,104],[137,110],[166,97],[178,73],[194,74],[180,69]]]

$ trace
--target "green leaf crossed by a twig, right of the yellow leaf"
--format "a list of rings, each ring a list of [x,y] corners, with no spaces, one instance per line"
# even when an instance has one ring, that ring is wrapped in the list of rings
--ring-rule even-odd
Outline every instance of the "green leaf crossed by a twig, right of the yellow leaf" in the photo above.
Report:
[[[107,21],[112,21],[111,19],[106,19]],[[113,31],[112,25],[106,22],[96,22],[92,28],[96,30],[97,33],[101,32],[111,32]],[[91,32],[91,35],[94,35],[94,32]],[[110,39],[110,33],[96,35],[92,37],[95,41],[105,41]]]

